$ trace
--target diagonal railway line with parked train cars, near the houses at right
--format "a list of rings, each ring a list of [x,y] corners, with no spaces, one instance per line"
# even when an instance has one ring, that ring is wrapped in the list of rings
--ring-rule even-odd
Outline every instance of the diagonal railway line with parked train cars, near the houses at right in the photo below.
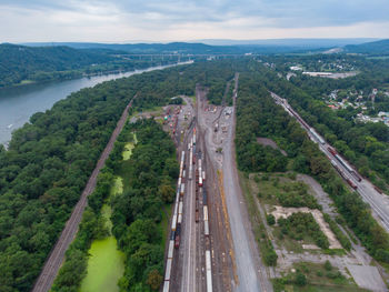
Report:
[[[295,117],[301,127],[307,131],[309,138],[319,144],[319,149],[331,161],[333,168],[340,173],[342,179],[358,192],[365,202],[372,210],[372,215],[389,232],[389,199],[381,191],[373,187],[368,180],[361,178],[355,168],[341,158],[336,149],[320,137],[301,117],[290,107],[286,99],[270,92],[277,104],[280,104],[291,117]],[[313,131],[312,131],[313,130]]]

